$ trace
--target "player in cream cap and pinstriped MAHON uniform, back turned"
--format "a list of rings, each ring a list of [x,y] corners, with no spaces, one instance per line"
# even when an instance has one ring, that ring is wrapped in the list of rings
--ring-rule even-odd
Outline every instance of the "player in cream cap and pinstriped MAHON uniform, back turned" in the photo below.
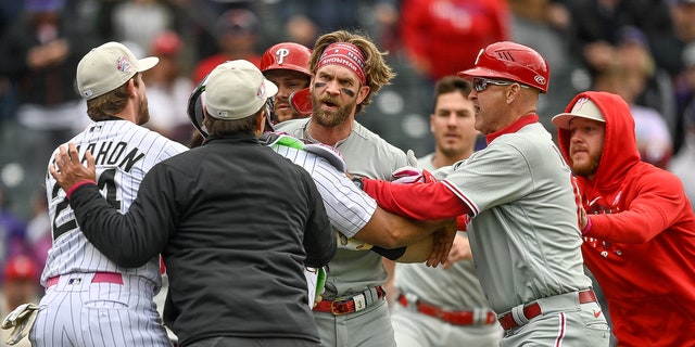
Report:
[[[149,118],[140,73],[157,61],[138,60],[125,46],[108,42],[77,66],[77,87],[93,123],[70,142],[94,153],[96,184],[121,213],[128,210],[143,176],[155,164],[187,150],[140,127]],[[29,334],[31,344],[170,346],[152,305],[161,286],[159,257],[138,268],[117,266],[80,232],[67,192],[50,175],[46,187],[53,245],[41,274],[46,295]]]

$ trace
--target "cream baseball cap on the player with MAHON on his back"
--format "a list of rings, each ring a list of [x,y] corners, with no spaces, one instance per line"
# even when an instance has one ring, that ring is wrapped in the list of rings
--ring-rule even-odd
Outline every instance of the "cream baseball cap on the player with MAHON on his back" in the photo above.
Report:
[[[94,99],[159,62],[156,56],[138,60],[123,43],[106,42],[89,51],[77,64],[77,89],[87,100]]]

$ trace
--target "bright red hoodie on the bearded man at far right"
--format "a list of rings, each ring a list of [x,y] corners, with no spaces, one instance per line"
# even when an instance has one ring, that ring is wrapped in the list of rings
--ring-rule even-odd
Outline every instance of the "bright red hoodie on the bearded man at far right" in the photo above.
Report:
[[[695,346],[695,217],[672,174],[640,160],[628,104],[607,92],[584,92],[606,119],[593,180],[578,177],[592,227],[584,261],[608,301],[620,346]],[[559,129],[569,157],[569,130]]]

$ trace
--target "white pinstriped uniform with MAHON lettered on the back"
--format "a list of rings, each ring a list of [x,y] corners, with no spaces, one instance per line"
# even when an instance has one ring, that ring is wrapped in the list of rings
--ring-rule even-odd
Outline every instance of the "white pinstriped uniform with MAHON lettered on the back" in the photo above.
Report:
[[[157,163],[187,150],[180,143],[128,120],[89,125],[70,140],[84,158],[96,159],[97,181],[106,200],[125,213],[144,175]],[[53,165],[53,158],[49,165]],[[46,187],[53,245],[41,284],[46,291],[29,335],[34,346],[170,346],[152,297],[161,286],[159,257],[140,268],[117,267],[79,231],[65,192],[51,175]],[[123,274],[123,285],[91,283],[97,272]]]

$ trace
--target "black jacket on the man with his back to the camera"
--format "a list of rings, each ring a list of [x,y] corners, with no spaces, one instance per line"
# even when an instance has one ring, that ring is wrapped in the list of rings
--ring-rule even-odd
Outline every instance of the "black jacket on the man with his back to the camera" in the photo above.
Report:
[[[117,265],[162,253],[165,322],[181,345],[215,336],[319,342],[302,271],[328,264],[334,232],[311,176],[250,134],[157,164],[126,215],[90,184],[71,206]]]

